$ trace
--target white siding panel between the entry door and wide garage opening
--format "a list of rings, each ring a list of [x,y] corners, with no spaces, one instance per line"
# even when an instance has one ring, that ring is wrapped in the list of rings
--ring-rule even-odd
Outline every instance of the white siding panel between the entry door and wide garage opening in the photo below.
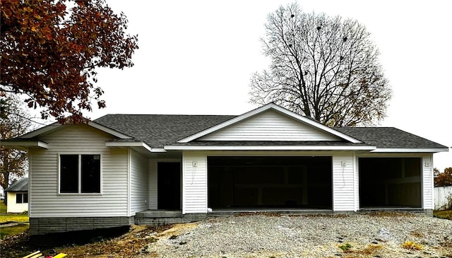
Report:
[[[182,185],[182,213],[206,213],[206,153],[182,153]]]

